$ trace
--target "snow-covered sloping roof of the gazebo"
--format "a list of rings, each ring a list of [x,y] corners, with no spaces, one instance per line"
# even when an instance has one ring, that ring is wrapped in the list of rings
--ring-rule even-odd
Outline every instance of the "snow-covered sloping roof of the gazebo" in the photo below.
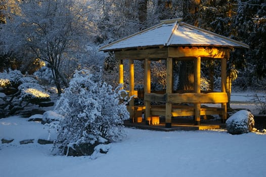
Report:
[[[156,46],[215,46],[249,48],[243,42],[189,25],[182,19],[161,21],[160,24],[110,43],[100,51],[146,48]]]

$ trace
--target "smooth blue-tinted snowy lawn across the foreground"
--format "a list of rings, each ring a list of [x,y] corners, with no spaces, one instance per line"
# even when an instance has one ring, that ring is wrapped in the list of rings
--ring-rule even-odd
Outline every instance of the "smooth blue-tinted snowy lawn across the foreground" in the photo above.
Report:
[[[161,132],[126,128],[127,138],[94,157],[53,156],[48,132],[26,118],[0,119],[0,176],[265,176],[266,135],[226,130]],[[34,143],[20,145],[20,141]]]

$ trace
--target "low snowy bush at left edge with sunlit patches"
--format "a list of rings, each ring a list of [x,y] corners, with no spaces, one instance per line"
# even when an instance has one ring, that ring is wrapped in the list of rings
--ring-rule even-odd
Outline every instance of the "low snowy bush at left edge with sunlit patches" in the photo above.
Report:
[[[50,95],[33,77],[25,77],[18,70],[0,73],[0,113],[4,116],[19,113],[29,103],[50,101]]]

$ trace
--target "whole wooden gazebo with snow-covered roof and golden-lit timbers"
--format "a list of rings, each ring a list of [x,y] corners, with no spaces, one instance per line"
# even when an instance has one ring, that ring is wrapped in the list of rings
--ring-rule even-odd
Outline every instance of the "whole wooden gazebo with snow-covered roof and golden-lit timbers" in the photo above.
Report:
[[[227,119],[227,61],[234,48],[249,48],[245,43],[186,24],[182,19],[161,21],[158,25],[110,43],[103,52],[114,52],[119,61],[119,83],[124,83],[123,60],[129,60],[129,96],[134,96],[134,60],[145,60],[144,106],[129,102],[131,122],[140,122],[137,112],[144,112],[146,124],[156,124],[165,116],[165,127],[172,126],[172,117],[194,116],[195,125],[200,117],[218,114]],[[220,92],[201,92],[200,75],[202,59],[220,60]],[[166,60],[166,91],[151,93],[151,61]],[[194,61],[194,90],[190,93],[173,91],[173,61]],[[164,102],[151,105],[151,102]],[[184,104],[186,103],[186,104]],[[205,107],[202,104],[216,104]]]

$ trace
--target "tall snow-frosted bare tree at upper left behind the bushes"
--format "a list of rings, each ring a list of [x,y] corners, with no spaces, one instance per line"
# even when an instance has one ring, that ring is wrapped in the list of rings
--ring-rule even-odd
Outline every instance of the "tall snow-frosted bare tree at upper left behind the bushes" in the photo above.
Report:
[[[21,15],[13,14],[12,20],[2,25],[2,49],[27,51],[35,58],[47,62],[53,73],[58,93],[65,77],[66,61],[79,59],[86,52],[86,45],[93,33],[92,14],[88,1],[46,0],[23,1]],[[73,63],[72,63],[73,65]],[[76,64],[77,65],[77,64]],[[72,73],[71,73],[72,74]]]

